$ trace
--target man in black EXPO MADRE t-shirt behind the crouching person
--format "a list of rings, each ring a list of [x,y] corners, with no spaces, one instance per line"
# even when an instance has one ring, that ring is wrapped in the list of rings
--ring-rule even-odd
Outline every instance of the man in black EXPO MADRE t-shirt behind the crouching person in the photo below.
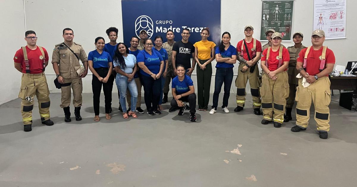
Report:
[[[196,62],[193,59],[191,64],[191,55],[195,55],[195,47],[188,41],[188,38],[190,37],[190,31],[188,29],[183,29],[181,36],[182,40],[175,42],[172,47],[172,69],[174,69],[174,74],[176,76],[176,64],[182,64],[185,66],[186,75],[191,77],[196,65]]]

